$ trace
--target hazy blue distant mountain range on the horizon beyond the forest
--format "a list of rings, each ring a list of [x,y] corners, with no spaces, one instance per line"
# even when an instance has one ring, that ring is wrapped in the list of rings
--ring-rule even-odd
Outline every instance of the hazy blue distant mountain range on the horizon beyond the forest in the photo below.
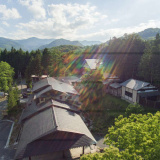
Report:
[[[156,34],[160,33],[160,28],[148,28],[144,31],[138,32],[137,34],[144,40],[154,39]],[[39,39],[31,37],[22,40],[13,40],[0,37],[0,48],[10,50],[11,47],[15,49],[22,48],[23,50],[36,50],[44,48],[52,48],[60,45],[73,45],[73,46],[91,46],[95,44],[101,44],[100,41],[70,41],[66,39]]]

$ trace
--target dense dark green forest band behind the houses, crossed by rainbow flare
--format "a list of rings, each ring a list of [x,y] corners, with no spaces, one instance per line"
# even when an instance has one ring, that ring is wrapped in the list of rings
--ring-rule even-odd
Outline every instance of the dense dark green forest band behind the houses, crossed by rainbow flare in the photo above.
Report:
[[[86,58],[103,60],[104,71],[120,79],[136,78],[160,86],[160,35],[154,40],[142,40],[137,34],[113,37],[101,45],[59,46],[51,49],[23,51],[12,47],[2,50],[0,61],[9,63],[15,78],[21,73],[30,82],[32,74],[67,76],[80,74]]]

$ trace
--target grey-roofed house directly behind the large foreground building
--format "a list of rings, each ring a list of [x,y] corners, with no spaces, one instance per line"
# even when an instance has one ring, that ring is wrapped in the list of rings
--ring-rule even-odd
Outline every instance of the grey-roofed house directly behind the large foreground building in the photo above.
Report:
[[[33,85],[34,100],[42,103],[48,99],[79,104],[79,93],[70,84],[48,77]]]

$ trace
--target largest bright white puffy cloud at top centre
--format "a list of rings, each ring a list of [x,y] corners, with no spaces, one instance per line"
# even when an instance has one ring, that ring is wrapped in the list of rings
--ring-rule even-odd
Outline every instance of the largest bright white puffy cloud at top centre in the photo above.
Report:
[[[53,17],[55,26],[72,29],[91,28],[99,20],[107,17],[96,11],[96,6],[82,4],[52,4],[48,6],[48,14]]]

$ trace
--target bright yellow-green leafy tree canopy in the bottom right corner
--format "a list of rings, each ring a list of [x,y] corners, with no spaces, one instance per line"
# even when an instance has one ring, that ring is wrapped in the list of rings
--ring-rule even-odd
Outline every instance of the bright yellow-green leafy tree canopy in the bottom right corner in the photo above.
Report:
[[[104,143],[110,147],[106,148],[103,153],[83,156],[81,160],[159,160],[159,142],[160,112],[155,115],[132,114],[129,118],[120,115],[105,136]]]

